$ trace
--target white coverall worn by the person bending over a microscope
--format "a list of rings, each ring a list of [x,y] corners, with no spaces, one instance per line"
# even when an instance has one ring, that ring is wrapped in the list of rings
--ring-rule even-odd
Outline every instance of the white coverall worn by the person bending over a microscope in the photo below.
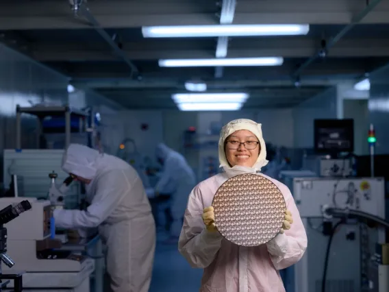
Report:
[[[127,162],[71,144],[62,169],[92,180],[84,210],[55,210],[60,228],[96,228],[108,248],[107,271],[114,292],[147,292],[155,252],[155,222],[138,173]]]

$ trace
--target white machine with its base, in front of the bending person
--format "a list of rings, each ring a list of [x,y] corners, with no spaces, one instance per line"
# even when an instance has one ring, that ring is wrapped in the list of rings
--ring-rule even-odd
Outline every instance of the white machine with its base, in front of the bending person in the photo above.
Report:
[[[20,197],[0,198],[0,208],[21,201]],[[23,274],[24,287],[89,291],[89,277],[95,269],[95,261],[62,249],[61,241],[53,239],[55,226],[49,201],[31,198],[29,203],[32,210],[8,223],[8,253],[18,263],[17,269],[26,272]],[[5,271],[14,271],[14,267]]]

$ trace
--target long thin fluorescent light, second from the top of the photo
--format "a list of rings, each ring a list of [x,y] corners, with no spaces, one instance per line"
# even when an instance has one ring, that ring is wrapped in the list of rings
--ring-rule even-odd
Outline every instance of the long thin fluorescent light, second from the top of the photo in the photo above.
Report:
[[[282,57],[159,60],[160,67],[281,66]]]

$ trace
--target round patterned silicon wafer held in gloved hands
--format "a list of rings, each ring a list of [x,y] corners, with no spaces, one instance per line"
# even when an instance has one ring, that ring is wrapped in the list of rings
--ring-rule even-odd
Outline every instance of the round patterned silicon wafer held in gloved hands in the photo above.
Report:
[[[286,204],[279,188],[262,175],[236,175],[216,191],[212,202],[218,232],[236,245],[258,246],[281,230]]]

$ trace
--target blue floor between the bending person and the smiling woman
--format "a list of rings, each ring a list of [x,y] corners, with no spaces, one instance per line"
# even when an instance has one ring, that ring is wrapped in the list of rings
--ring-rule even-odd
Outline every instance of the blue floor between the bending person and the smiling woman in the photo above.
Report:
[[[153,278],[149,292],[199,292],[202,269],[192,269],[179,254],[177,244],[163,243],[166,235],[157,234]]]

